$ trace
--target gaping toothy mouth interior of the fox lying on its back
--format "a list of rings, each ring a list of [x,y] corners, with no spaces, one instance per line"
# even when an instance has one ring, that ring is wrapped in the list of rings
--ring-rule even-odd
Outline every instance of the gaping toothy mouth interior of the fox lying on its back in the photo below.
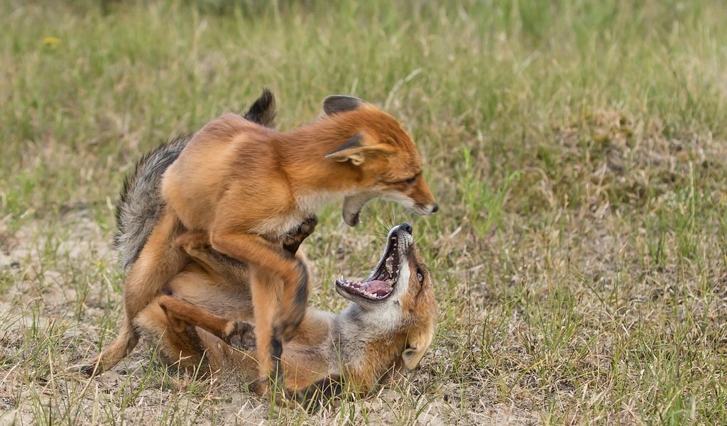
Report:
[[[384,257],[379,266],[364,281],[349,281],[343,277],[336,280],[342,291],[368,300],[384,300],[394,292],[399,276],[399,250],[396,233],[389,237]]]

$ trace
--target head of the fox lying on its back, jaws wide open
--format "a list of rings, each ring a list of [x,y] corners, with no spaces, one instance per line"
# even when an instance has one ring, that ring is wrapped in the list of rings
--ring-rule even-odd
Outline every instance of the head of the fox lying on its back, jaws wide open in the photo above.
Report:
[[[411,225],[403,223],[390,230],[384,254],[369,278],[361,282],[338,278],[336,290],[355,304],[364,322],[405,333],[401,361],[408,369],[419,364],[434,337],[439,310]]]

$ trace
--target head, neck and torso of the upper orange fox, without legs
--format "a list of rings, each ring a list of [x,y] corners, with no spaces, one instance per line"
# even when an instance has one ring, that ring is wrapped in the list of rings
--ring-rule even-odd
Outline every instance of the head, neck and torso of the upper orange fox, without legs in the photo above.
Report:
[[[270,238],[337,198],[348,225],[377,196],[435,212],[419,152],[398,121],[356,98],[331,98],[326,116],[291,132],[230,114],[210,121],[166,170],[165,201],[188,229]]]

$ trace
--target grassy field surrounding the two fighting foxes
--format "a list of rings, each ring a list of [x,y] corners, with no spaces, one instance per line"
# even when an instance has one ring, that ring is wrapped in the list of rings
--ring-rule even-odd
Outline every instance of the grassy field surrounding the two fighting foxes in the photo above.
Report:
[[[4,1],[0,419],[16,424],[721,424],[727,9],[714,1]],[[347,93],[400,118],[441,212],[340,205],[311,303],[412,220],[442,308],[422,366],[364,401],[276,411],[152,350],[65,367],[121,320],[113,203],[158,142],[241,111],[281,129]]]

